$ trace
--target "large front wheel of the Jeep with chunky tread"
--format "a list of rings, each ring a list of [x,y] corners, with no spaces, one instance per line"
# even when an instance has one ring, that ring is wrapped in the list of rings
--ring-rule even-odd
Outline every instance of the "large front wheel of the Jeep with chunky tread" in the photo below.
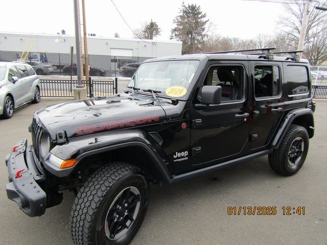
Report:
[[[138,167],[115,162],[84,183],[71,212],[75,244],[128,244],[148,209],[149,185]]]

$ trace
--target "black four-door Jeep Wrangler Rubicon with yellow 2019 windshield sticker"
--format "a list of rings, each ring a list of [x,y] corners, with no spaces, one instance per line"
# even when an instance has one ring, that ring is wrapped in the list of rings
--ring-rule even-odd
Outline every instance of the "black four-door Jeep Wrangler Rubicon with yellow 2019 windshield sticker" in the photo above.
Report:
[[[314,135],[309,63],[271,50],[147,60],[122,94],[37,111],[33,144],[19,141],[6,158],[8,198],[40,216],[73,190],[74,243],[127,244],[149,183],[267,154],[278,174],[296,174]]]

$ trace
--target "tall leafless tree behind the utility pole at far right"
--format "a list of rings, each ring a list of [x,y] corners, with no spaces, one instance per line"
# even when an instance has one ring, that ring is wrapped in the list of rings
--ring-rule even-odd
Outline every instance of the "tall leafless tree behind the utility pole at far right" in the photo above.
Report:
[[[279,35],[287,42],[290,49],[297,48],[304,11],[303,1],[297,4],[286,4],[285,15],[278,21]],[[327,6],[326,0],[314,2],[317,6]],[[327,59],[327,12],[313,9],[309,15],[308,28],[305,35],[303,55],[313,65],[320,65]]]

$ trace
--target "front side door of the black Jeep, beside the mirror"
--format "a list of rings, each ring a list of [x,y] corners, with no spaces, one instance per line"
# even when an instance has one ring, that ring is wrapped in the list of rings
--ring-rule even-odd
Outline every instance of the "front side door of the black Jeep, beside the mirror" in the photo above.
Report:
[[[192,165],[213,165],[237,157],[244,149],[249,135],[249,95],[247,61],[216,61],[207,66],[202,86],[221,86],[219,105],[197,107],[201,96],[195,96],[191,106]]]

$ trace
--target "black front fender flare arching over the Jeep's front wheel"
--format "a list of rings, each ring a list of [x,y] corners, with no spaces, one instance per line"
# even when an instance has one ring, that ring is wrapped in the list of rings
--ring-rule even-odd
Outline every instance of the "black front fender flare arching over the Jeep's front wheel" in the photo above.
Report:
[[[110,152],[116,149],[126,148],[127,146],[138,147],[146,151],[153,162],[160,176],[160,180],[170,183],[173,179],[166,162],[165,156],[161,156],[146,139],[146,135],[141,130],[124,130],[103,132],[98,134],[79,136],[69,140],[63,145],[56,145],[51,154],[60,159],[77,159],[78,163],[85,157],[96,155],[103,152]],[[49,157],[44,162],[44,167],[57,177],[70,175],[78,166],[78,163],[70,168],[61,169],[49,161]]]

